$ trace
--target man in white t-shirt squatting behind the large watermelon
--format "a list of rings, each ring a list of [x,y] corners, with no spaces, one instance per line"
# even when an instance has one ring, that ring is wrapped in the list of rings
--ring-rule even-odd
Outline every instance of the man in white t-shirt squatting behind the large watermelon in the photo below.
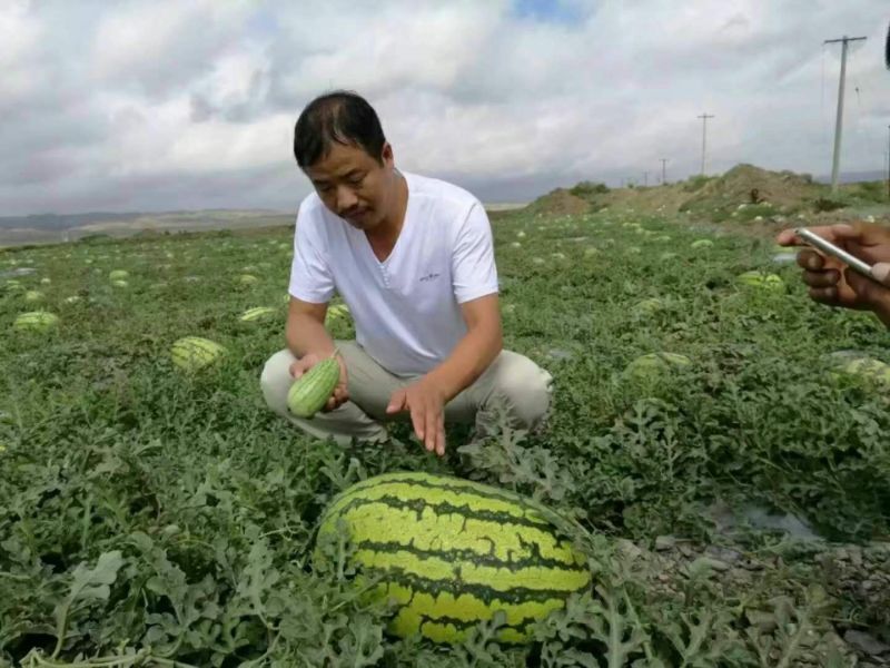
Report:
[[[411,419],[425,448],[445,452],[445,423],[538,429],[550,409],[550,373],[502,348],[497,269],[482,204],[443,180],[395,167],[376,111],[336,91],[297,119],[297,165],[314,186],[294,239],[287,346],[263,370],[269,407],[320,439],[387,438]],[[327,304],[338,293],[355,341],[333,341]],[[340,380],[309,420],[287,410],[287,392],[339,351]]]

